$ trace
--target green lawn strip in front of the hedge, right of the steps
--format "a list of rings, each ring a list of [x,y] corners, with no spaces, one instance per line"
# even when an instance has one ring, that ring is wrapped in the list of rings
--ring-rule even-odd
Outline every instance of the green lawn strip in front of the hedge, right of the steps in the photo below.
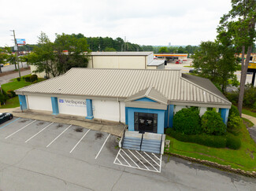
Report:
[[[256,171],[256,144],[250,138],[244,124],[241,131],[239,137],[242,145],[238,150],[216,149],[195,143],[177,141],[175,138],[166,135],[166,139],[170,140],[170,149],[169,151],[165,150],[165,152],[231,165],[233,168],[240,168],[244,171]]]

